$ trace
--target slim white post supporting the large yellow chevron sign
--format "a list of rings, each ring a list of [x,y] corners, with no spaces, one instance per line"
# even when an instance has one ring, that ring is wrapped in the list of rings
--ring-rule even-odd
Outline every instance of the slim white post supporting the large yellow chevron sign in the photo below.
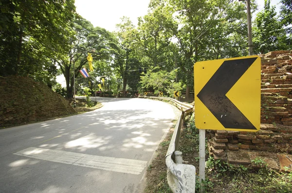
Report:
[[[201,184],[201,180],[205,180],[205,135],[206,130],[205,129],[199,129],[199,135],[200,135],[200,171],[199,171],[199,182]],[[205,187],[201,184],[201,193],[205,192]]]

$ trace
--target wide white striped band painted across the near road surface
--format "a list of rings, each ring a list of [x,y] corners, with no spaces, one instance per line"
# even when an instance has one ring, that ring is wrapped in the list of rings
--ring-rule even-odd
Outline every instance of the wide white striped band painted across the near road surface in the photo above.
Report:
[[[83,167],[136,175],[141,174],[147,163],[147,161],[141,160],[94,156],[82,153],[43,149],[37,147],[29,147],[14,154],[39,160],[54,161],[58,163],[66,163]]]

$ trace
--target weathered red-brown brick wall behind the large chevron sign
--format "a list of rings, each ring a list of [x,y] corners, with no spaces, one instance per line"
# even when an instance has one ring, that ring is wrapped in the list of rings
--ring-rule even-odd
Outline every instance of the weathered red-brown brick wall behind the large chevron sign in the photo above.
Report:
[[[292,153],[292,51],[261,57],[261,128],[257,132],[207,130],[209,152],[226,160],[240,149]]]

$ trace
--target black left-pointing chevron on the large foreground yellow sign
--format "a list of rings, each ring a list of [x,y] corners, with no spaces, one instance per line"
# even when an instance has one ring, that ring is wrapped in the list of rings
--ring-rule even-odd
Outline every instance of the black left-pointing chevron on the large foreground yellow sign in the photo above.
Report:
[[[224,61],[197,95],[224,128],[256,129],[226,96],[255,61],[256,58]]]

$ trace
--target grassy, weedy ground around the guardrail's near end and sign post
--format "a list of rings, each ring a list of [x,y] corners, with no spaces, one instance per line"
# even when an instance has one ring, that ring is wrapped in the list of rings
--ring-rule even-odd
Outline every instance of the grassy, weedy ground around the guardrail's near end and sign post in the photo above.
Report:
[[[199,131],[195,128],[194,114],[186,117],[180,151],[183,161],[196,167],[199,174]],[[169,136],[160,144],[158,156],[147,169],[146,193],[171,193],[166,179],[165,154],[170,142]],[[258,169],[243,165],[234,166],[224,161],[215,161],[208,155],[206,147],[206,179],[202,182],[206,193],[291,193],[292,171],[277,172],[268,168],[261,158],[252,160]],[[196,192],[201,185],[196,180]]]

